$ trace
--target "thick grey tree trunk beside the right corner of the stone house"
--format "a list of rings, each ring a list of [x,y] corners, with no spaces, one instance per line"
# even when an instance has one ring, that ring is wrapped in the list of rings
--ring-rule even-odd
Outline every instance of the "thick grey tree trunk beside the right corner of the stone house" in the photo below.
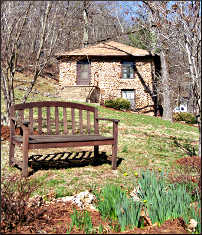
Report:
[[[169,72],[165,52],[160,53],[161,75],[162,75],[162,94],[163,94],[163,119],[172,121],[171,94],[169,87]]]

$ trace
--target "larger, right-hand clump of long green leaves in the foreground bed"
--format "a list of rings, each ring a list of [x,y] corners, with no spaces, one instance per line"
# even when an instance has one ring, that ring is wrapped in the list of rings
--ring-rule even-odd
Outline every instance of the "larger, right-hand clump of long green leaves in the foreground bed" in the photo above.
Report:
[[[169,184],[154,172],[144,171],[138,180],[138,197],[146,201],[152,223],[183,217],[188,223],[194,211],[190,208],[192,197],[184,184]],[[199,201],[199,197],[197,199]],[[195,216],[196,217],[196,216]],[[197,221],[201,220],[199,217]]]

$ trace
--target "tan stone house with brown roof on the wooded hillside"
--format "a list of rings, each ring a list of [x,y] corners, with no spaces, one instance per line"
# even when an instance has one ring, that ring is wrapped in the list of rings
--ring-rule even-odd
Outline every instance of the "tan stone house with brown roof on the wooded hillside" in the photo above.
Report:
[[[67,100],[103,103],[123,97],[133,110],[149,111],[157,102],[155,73],[159,57],[109,41],[56,55],[60,95]]]

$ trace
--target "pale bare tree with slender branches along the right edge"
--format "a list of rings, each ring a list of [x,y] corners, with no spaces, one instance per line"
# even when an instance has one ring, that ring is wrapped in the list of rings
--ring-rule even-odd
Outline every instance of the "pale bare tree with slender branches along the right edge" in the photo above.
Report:
[[[179,34],[183,38],[181,50],[188,58],[191,94],[193,96],[193,112],[199,127],[199,156],[201,157],[201,2],[177,2],[176,23],[179,24]]]

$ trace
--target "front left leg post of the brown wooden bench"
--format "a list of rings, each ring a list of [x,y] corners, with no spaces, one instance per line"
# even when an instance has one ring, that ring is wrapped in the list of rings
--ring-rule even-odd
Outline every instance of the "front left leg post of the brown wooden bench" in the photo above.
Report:
[[[22,175],[28,176],[28,150],[29,150],[29,128],[23,125],[23,165]]]

